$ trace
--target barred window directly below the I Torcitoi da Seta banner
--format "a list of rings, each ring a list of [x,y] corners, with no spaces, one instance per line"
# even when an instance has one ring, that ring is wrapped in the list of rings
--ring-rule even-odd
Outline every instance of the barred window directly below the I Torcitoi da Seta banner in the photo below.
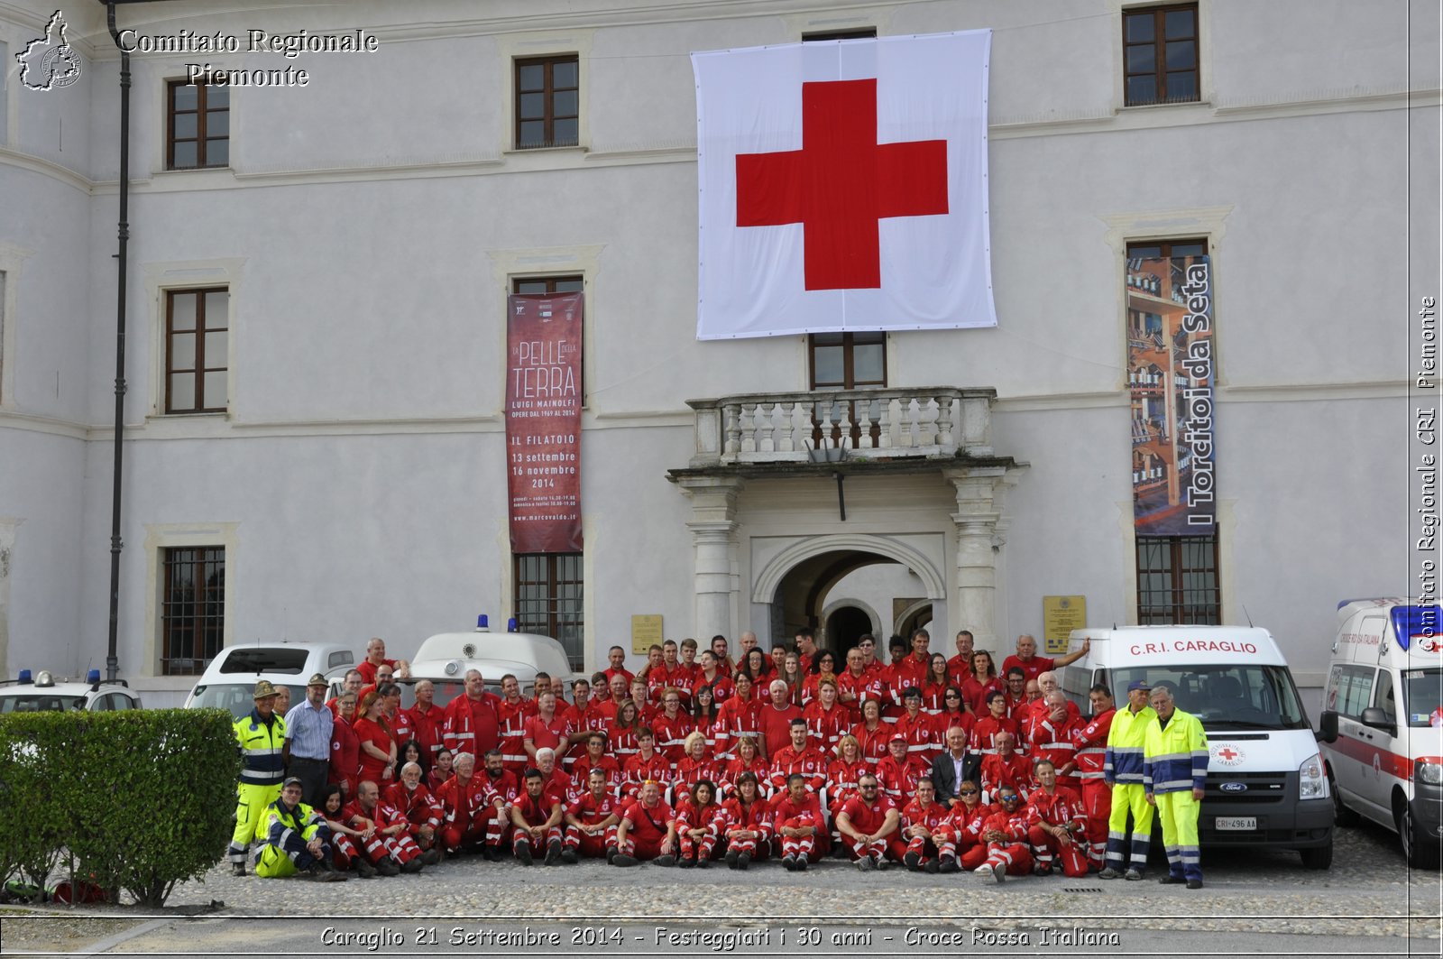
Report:
[[[1222,622],[1216,536],[1137,537],[1137,622]]]

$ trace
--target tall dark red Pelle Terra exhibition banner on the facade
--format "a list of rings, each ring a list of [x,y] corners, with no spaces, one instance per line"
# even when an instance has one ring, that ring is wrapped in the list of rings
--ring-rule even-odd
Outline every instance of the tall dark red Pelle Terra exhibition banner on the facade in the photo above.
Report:
[[[512,553],[582,552],[582,295],[506,299]]]

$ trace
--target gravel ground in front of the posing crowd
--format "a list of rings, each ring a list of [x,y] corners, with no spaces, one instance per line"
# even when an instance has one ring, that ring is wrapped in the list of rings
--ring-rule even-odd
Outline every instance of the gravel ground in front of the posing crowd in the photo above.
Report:
[[[356,916],[358,897],[365,897],[369,916],[485,917],[488,923],[600,919],[726,924],[811,919],[833,924],[1078,924],[1414,940],[1437,940],[1440,934],[1439,872],[1408,869],[1394,838],[1382,829],[1339,830],[1329,871],[1303,869],[1294,854],[1263,851],[1206,854],[1203,871],[1206,887],[1185,891],[1153,881],[1160,874],[1157,862],[1144,882],[1022,877],[1003,885],[968,874],[863,874],[843,861],[824,861],[805,874],[792,874],[775,862],[733,872],[724,864],[688,871],[649,865],[618,869],[597,861],[525,868],[460,856],[418,875],[352,878],[343,884],[235,878],[222,864],[203,881],[177,887],[166,910],[144,917],[124,907],[46,907],[0,910],[0,923],[4,952],[72,950],[154,916],[343,917]]]

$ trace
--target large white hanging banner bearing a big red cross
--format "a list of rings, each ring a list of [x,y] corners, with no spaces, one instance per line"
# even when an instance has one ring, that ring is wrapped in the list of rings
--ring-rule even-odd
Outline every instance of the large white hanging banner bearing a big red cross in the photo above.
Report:
[[[693,53],[697,338],[996,326],[990,30]]]

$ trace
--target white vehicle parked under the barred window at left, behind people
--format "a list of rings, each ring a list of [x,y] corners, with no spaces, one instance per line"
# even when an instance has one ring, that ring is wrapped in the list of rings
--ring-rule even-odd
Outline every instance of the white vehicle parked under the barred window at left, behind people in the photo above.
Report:
[[[290,705],[306,698],[306,680],[320,673],[339,682],[355,666],[355,653],[339,643],[253,643],[227,646],[205,667],[185,700],[186,709],[214,706],[240,719],[255,700],[255,683],[268,679],[290,687]]]

